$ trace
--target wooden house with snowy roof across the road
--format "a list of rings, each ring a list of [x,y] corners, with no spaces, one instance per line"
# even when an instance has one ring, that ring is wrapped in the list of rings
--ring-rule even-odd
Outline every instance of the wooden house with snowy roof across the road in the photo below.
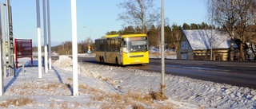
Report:
[[[230,36],[228,33],[217,29],[182,30],[177,59],[210,60],[211,44],[213,60],[230,59]],[[238,55],[238,45],[234,43],[234,60],[238,60]]]

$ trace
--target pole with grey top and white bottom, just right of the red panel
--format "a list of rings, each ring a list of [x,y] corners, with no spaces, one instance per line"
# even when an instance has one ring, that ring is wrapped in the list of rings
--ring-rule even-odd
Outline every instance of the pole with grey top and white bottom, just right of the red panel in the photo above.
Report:
[[[41,51],[41,25],[40,25],[40,3],[37,0],[37,25],[38,25],[38,78],[42,79],[42,51]]]

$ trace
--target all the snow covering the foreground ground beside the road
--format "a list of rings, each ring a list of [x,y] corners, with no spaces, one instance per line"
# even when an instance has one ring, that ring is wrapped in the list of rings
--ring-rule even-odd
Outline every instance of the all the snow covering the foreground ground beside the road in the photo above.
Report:
[[[19,61],[26,63],[25,73],[18,68],[18,76],[4,78],[6,91],[0,97],[0,108],[256,108],[255,89],[171,75],[165,78],[168,99],[137,100],[127,96],[145,97],[160,91],[161,73],[80,62],[79,95],[73,96],[68,56],[56,60],[42,79],[38,79],[37,66],[29,67],[30,58]],[[30,102],[22,105],[24,101]]]

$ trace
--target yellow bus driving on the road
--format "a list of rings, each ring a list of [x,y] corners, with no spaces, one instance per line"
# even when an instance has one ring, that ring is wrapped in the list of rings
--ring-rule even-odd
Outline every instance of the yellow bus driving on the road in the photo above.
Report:
[[[106,35],[96,39],[95,58],[102,64],[148,64],[146,34]]]

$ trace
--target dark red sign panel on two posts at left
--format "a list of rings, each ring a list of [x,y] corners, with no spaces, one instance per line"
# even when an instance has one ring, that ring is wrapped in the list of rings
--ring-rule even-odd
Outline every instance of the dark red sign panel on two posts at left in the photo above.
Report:
[[[18,58],[31,57],[31,64],[33,66],[33,51],[31,39],[15,39],[14,52],[16,56],[16,68],[18,68]]]

